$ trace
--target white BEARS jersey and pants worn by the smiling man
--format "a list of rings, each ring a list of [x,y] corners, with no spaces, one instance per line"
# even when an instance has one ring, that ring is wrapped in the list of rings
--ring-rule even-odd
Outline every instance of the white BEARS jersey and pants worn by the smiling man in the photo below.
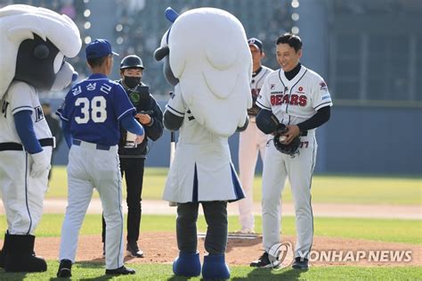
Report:
[[[283,70],[268,75],[256,104],[271,110],[280,123],[296,125],[333,103],[324,79],[301,66],[291,80]],[[309,258],[313,237],[311,183],[318,147],[315,129],[301,136],[299,147],[293,156],[280,153],[272,141],[267,147],[263,172],[263,244],[268,252],[273,244],[280,243],[280,194],[288,178],[296,211],[295,256]]]

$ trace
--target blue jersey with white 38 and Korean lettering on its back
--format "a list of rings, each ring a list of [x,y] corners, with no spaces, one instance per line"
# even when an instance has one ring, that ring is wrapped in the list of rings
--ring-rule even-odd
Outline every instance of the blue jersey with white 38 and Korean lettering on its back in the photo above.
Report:
[[[125,89],[98,73],[72,87],[57,111],[73,138],[98,145],[117,145],[119,120],[135,113]]]

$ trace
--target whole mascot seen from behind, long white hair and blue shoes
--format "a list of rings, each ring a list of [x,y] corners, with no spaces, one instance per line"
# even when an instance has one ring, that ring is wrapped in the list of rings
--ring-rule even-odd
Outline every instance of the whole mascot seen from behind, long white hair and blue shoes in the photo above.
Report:
[[[249,81],[252,58],[242,24],[231,13],[199,8],[178,15],[155,52],[164,59],[174,95],[166,104],[164,124],[180,128],[179,141],[166,180],[164,199],[177,203],[176,276],[201,273],[197,251],[199,203],[207,220],[202,277],[229,278],[225,263],[227,202],[244,198],[231,163],[228,137],[248,126],[252,105]]]

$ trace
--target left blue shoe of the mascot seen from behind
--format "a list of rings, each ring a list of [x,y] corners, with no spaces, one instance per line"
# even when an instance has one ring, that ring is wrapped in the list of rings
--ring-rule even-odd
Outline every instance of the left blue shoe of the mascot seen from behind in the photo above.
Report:
[[[179,256],[173,262],[173,272],[175,276],[199,277],[199,252],[179,252]]]

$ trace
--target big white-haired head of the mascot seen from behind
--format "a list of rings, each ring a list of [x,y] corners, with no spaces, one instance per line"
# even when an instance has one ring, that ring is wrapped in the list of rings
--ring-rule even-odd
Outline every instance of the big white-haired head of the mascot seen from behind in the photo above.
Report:
[[[154,56],[165,59],[167,81],[180,83],[183,100],[195,119],[213,133],[231,136],[242,127],[252,105],[252,57],[242,24],[230,12],[193,9],[178,15]]]

